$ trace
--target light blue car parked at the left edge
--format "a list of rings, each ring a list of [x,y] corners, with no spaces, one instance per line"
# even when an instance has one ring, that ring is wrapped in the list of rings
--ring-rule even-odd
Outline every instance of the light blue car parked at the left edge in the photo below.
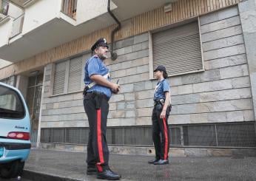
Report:
[[[30,148],[30,114],[25,100],[18,89],[0,82],[0,177],[20,175]]]

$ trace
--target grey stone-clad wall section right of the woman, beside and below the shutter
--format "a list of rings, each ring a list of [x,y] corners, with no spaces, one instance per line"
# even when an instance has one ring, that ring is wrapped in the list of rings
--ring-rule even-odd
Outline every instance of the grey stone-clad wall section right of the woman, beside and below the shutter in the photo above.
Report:
[[[238,8],[200,18],[205,72],[171,78],[170,123],[255,120]]]

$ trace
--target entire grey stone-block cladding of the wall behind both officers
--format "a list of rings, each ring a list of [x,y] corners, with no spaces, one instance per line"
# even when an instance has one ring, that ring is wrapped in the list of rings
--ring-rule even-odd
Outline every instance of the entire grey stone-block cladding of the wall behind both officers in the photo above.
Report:
[[[237,7],[200,18],[204,72],[168,78],[170,124],[255,120],[246,51]],[[149,80],[149,35],[115,44],[118,60],[107,60],[112,81],[121,84],[110,99],[108,126],[151,125],[156,80]],[[186,66],[186,65],[184,65]],[[50,97],[52,64],[45,67],[41,127],[87,127],[81,92]]]

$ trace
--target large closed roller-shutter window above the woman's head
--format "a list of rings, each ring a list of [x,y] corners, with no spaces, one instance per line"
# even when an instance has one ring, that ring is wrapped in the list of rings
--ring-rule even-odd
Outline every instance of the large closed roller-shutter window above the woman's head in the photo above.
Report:
[[[203,70],[198,21],[152,34],[153,69],[166,66],[168,75]]]

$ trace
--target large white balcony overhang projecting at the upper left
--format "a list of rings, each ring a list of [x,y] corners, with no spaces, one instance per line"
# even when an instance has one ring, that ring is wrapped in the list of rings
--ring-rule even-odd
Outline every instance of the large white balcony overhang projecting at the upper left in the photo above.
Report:
[[[107,13],[107,0],[11,2],[23,6],[16,18],[0,23],[0,37],[4,37],[0,38],[0,58],[11,62],[30,58],[115,23]],[[12,8],[13,5],[9,11]]]

